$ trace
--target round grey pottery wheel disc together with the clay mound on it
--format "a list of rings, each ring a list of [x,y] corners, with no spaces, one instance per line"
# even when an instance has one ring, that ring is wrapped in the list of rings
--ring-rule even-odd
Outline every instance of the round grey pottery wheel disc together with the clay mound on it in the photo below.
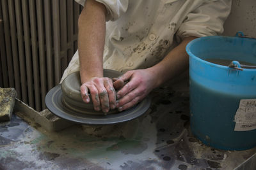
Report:
[[[109,69],[104,69],[104,76],[109,78],[118,77],[120,73]],[[107,115],[102,111],[93,110],[93,104],[83,102],[80,94],[79,72],[72,73],[61,85],[51,89],[45,96],[47,108],[58,117],[90,125],[107,125],[126,122],[140,117],[150,106],[150,98],[146,97],[143,101],[129,110],[111,110]],[[91,100],[90,100],[91,101]]]

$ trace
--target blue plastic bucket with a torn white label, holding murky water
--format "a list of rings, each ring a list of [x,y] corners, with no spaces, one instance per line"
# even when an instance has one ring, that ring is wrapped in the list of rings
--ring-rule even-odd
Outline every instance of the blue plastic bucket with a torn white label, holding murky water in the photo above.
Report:
[[[241,70],[237,62],[238,69],[206,61],[230,59],[256,66],[256,39],[208,36],[194,39],[186,50],[193,134],[206,145],[223,150],[256,146],[256,69]]]

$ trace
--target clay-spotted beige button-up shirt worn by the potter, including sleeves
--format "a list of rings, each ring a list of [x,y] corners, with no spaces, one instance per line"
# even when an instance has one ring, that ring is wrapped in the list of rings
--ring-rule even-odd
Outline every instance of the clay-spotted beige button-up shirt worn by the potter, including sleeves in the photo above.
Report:
[[[122,72],[153,66],[188,36],[221,34],[231,6],[231,0],[96,1],[108,10],[104,68]],[[79,71],[78,52],[63,78],[74,71]]]

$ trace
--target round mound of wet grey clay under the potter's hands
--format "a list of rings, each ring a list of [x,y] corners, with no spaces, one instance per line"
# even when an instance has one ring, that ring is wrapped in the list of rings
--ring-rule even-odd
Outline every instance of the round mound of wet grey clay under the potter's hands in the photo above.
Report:
[[[116,78],[120,75],[121,73],[118,71],[104,69],[104,77]],[[118,80],[116,81],[116,83],[114,83],[114,86],[117,88],[121,88],[123,85],[124,82],[122,83]],[[80,87],[81,80],[79,71],[68,75],[67,78],[65,78],[65,80],[63,81],[63,83],[61,83],[61,102],[71,110],[74,110],[78,113],[84,113],[89,115],[106,115],[106,113],[103,113],[103,111],[94,110],[90,94],[90,103],[84,103],[81,97]],[[118,113],[118,110],[110,110],[107,114],[113,113]]]

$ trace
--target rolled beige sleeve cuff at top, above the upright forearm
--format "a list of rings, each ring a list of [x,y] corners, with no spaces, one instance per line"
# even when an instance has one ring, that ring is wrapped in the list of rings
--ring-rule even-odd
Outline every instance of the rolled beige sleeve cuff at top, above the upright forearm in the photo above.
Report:
[[[76,0],[77,3],[84,6],[86,0]],[[99,3],[104,4],[108,11],[106,21],[115,21],[120,18],[128,8],[129,0],[95,0]]]

